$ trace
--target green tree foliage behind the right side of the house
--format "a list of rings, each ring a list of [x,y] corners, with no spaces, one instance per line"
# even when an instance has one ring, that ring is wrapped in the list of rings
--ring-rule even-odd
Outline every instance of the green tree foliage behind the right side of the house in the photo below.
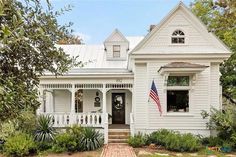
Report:
[[[220,80],[223,96],[236,105],[236,1],[195,0],[192,11],[232,51],[230,58],[221,64]]]

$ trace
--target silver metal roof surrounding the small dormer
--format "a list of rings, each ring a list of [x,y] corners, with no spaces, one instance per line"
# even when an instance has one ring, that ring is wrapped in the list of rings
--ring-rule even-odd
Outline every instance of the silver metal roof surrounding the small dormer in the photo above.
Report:
[[[126,37],[129,41],[129,52],[143,39],[142,36]],[[82,69],[93,69],[92,71],[104,69],[127,69],[127,60],[106,60],[106,51],[104,45],[57,45],[61,47],[70,56],[78,56],[79,60],[84,63]],[[128,53],[129,53],[128,52]],[[127,55],[128,57],[128,55]],[[104,71],[101,70],[101,71]],[[82,72],[78,68],[72,71]],[[85,72],[83,70],[83,72]]]

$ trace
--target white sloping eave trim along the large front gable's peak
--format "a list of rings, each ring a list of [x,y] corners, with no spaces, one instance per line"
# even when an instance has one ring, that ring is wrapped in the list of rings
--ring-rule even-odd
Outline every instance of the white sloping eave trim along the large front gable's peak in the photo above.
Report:
[[[208,36],[211,40],[214,40],[215,44],[218,44],[219,47],[226,53],[231,53],[231,51],[229,50],[229,48],[221,41],[218,39],[218,37],[216,37],[214,35],[214,33],[208,32],[207,27],[205,24],[203,24],[203,22],[192,13],[192,11],[185,6],[185,4],[180,1],[178,3],[178,5],[176,5],[170,12],[169,14],[167,14],[167,16],[165,18],[163,18],[160,23],[158,25],[156,25],[146,36],[145,38],[131,51],[131,54],[136,54],[135,52],[139,51],[149,40],[151,40],[152,36],[154,34],[156,34],[156,32],[159,31],[159,29],[176,13],[176,11],[178,9],[182,9],[184,10],[190,17],[191,20],[194,20],[198,23],[199,28],[201,28],[202,30],[205,30],[206,36]],[[214,49],[215,50],[215,49]],[[142,53],[142,52],[141,52]]]

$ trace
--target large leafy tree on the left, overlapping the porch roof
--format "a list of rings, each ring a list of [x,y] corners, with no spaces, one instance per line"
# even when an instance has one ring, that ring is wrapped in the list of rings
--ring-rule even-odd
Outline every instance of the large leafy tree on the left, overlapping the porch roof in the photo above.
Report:
[[[61,75],[82,63],[55,44],[69,37],[54,12],[39,0],[0,0],[0,123],[22,110],[36,110],[39,77],[45,71]]]

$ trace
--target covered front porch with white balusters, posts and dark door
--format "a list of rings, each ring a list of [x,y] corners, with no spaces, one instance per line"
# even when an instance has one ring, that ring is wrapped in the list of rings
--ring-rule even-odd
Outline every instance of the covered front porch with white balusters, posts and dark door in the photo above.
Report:
[[[131,83],[108,84],[40,84],[41,106],[38,114],[53,117],[57,128],[80,125],[104,132],[108,141],[108,126],[130,126],[132,131]]]

